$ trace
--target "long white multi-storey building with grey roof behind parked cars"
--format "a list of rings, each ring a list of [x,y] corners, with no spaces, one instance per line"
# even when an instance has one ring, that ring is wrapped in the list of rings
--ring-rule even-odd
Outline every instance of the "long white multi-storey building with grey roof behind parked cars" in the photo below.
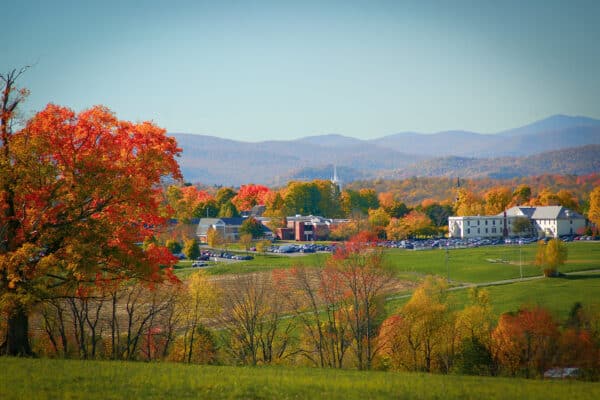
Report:
[[[528,218],[538,237],[574,235],[586,226],[583,215],[562,206],[512,207],[498,215],[450,217],[448,232],[456,238],[514,236],[517,218]]]

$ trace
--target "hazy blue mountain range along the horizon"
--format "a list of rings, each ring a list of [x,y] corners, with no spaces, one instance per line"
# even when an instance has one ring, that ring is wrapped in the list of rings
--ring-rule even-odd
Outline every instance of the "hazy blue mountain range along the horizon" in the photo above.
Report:
[[[481,134],[402,132],[362,140],[339,134],[242,142],[170,133],[183,149],[189,182],[284,185],[292,179],[342,181],[410,176],[502,177],[600,172],[600,120],[555,115],[526,126]]]

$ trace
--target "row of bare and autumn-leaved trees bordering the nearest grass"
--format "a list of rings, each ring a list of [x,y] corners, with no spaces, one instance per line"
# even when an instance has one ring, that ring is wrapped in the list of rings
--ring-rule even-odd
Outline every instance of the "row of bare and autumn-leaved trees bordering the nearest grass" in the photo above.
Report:
[[[496,318],[485,289],[469,289],[459,308],[446,280],[428,276],[389,312],[393,274],[372,239],[354,237],[320,268],[80,287],[38,306],[32,346],[84,359],[600,377],[598,310],[576,303],[558,321],[524,306]]]

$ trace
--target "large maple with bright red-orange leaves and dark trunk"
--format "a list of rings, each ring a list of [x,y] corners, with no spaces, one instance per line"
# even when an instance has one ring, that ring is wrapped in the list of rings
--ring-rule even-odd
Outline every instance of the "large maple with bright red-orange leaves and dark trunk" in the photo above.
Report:
[[[3,75],[12,104],[15,75]],[[12,132],[2,113],[0,353],[31,354],[28,313],[57,292],[93,290],[127,278],[176,280],[170,252],[136,243],[166,223],[160,183],[181,178],[180,152],[150,122],[118,120],[96,106],[76,114],[53,104]]]

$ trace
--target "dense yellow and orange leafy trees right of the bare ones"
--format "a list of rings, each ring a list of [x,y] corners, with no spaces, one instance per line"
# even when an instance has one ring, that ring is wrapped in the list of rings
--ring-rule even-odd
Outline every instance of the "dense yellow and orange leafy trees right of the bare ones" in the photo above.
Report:
[[[429,277],[398,313],[384,321],[381,360],[397,370],[541,377],[575,367],[600,372],[600,315],[576,303],[562,325],[543,308],[522,308],[493,320],[487,291],[451,311],[446,284]]]

